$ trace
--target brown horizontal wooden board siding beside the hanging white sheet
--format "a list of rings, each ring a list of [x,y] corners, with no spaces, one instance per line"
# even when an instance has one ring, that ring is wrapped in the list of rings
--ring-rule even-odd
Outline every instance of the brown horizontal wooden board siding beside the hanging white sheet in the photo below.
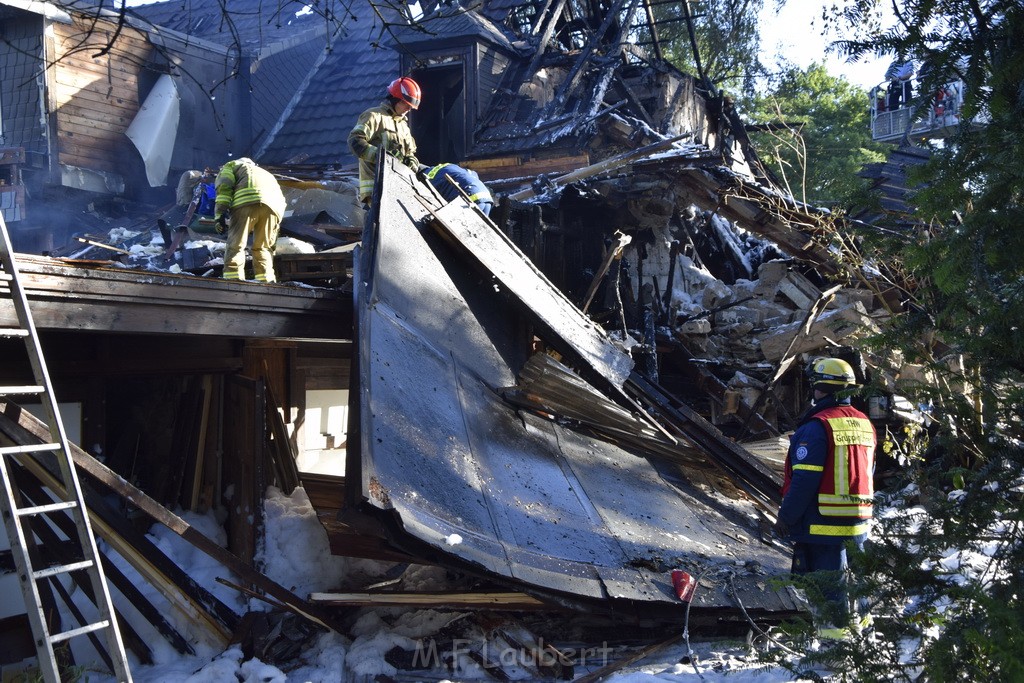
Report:
[[[125,131],[138,112],[139,75],[153,46],[128,27],[84,20],[53,24],[54,65],[49,79],[61,164],[124,173],[132,158]],[[112,49],[101,51],[113,42]]]

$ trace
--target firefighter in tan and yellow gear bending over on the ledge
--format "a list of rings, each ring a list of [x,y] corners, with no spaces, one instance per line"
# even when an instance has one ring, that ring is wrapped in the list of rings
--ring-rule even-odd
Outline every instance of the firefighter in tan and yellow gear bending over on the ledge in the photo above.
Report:
[[[273,248],[288,206],[278,179],[252,159],[243,157],[220,168],[216,187],[217,231],[227,231],[224,280],[245,280],[246,242],[252,230],[256,281],[278,282]]]

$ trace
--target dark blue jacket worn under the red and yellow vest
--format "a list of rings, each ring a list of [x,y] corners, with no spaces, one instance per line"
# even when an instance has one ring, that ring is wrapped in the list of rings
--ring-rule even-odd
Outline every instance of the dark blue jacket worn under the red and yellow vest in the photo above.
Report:
[[[827,545],[842,545],[846,541],[853,541],[859,545],[867,537],[866,530],[862,533],[840,536],[811,533],[812,526],[836,528],[837,524],[848,524],[847,528],[851,531],[854,530],[853,527],[866,527],[866,524],[861,523],[863,520],[853,517],[846,519],[822,515],[818,501],[818,494],[823,487],[823,472],[831,469],[831,465],[825,461],[834,458],[834,455],[829,449],[825,427],[816,416],[837,405],[849,404],[849,398],[839,400],[834,396],[822,398],[804,414],[797,430],[790,437],[790,451],[785,457],[786,486],[783,489],[778,516],[790,527],[792,541]],[[857,412],[857,415],[866,421],[863,414]],[[873,436],[871,438],[873,439]]]

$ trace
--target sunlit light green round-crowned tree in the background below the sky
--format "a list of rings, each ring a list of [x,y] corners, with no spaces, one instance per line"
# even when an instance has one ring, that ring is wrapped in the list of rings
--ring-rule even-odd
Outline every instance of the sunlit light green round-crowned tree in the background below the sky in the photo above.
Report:
[[[807,203],[846,203],[863,185],[857,172],[884,159],[871,141],[867,93],[824,66],[791,67],[749,110],[761,160]]]

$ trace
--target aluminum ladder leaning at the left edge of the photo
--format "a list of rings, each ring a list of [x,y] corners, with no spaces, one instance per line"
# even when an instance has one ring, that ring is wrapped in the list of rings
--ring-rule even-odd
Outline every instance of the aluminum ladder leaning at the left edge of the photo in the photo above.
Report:
[[[131,672],[128,669],[121,632],[118,630],[115,620],[114,605],[108,590],[106,579],[99,562],[96,540],[89,524],[89,515],[85,508],[82,487],[75,472],[68,436],[65,433],[63,423],[60,421],[57,403],[53,397],[53,387],[50,384],[49,373],[46,370],[42,348],[39,345],[36,326],[29,310],[29,301],[18,281],[17,265],[14,261],[7,224],[3,215],[0,214],[0,306],[3,305],[3,299],[8,298],[14,304],[19,325],[16,328],[0,328],[0,337],[19,337],[25,340],[36,384],[33,386],[0,386],[0,397],[38,397],[43,404],[45,415],[48,417],[47,424],[50,427],[51,437],[50,443],[0,446],[0,474],[3,476],[0,512],[3,514],[11,554],[17,569],[22,592],[25,595],[25,606],[29,623],[32,625],[39,670],[43,680],[47,683],[60,683],[60,672],[53,651],[54,645],[78,636],[99,635],[98,632],[102,631],[106,640],[105,654],[114,675],[118,681],[130,683]],[[51,495],[58,499],[58,502],[47,505],[19,506],[22,498],[17,485],[13,481],[12,468],[14,463],[11,461],[24,463],[28,459],[33,459],[42,462],[46,458],[55,459],[55,464],[59,469],[60,486],[49,487]],[[50,462],[52,464],[54,461]],[[54,468],[51,466],[50,469]],[[57,490],[58,487],[62,487],[63,490]],[[78,545],[77,554],[80,557],[76,558],[77,561],[40,568],[33,565],[33,556],[38,558],[38,553],[33,552],[36,539],[31,526],[27,525],[26,521],[34,517],[45,519],[47,515],[65,515],[74,521],[78,538],[70,541]],[[28,531],[27,526],[29,526]],[[58,581],[61,574],[73,571],[84,571],[88,574],[98,617],[92,624],[82,624],[69,631],[50,633],[44,614],[40,583],[51,580]],[[77,610],[72,610],[72,612],[76,613]],[[94,639],[95,635],[90,635],[90,639]],[[100,654],[103,653],[100,652]]]

